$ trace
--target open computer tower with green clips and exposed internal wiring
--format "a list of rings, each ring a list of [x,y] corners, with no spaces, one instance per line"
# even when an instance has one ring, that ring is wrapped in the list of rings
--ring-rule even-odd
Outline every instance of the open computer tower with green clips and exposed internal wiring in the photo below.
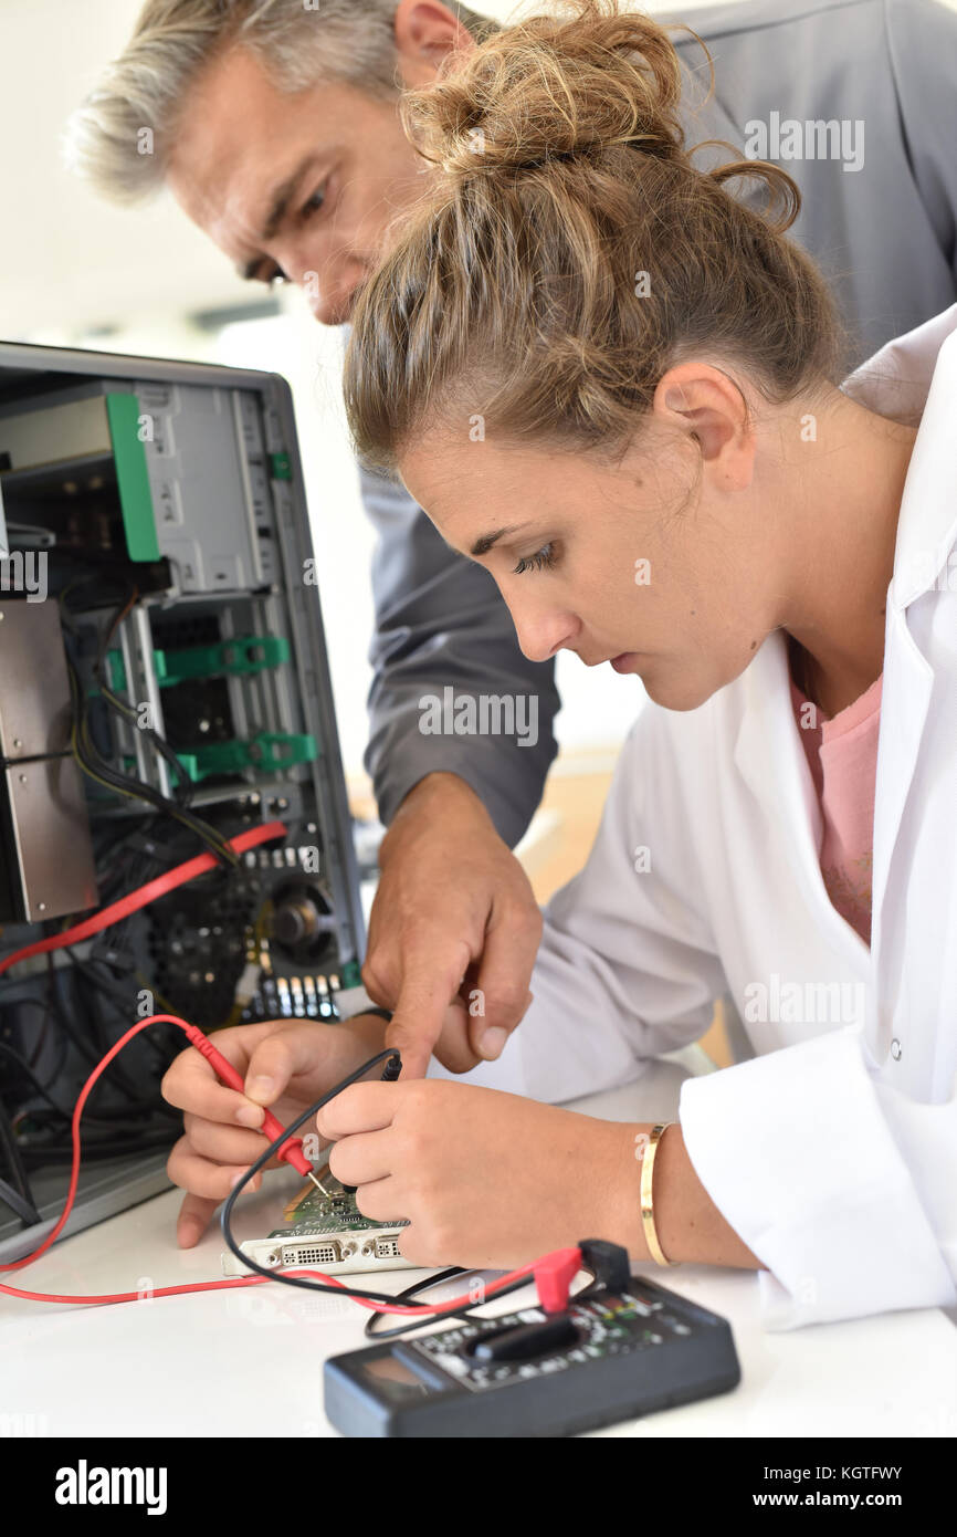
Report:
[[[289,386],[0,344],[0,1259],[58,1216],[77,1093],[137,1017],[335,1021],[361,948]],[[66,1231],[167,1187],[184,1047],[154,1025],[97,1084]]]

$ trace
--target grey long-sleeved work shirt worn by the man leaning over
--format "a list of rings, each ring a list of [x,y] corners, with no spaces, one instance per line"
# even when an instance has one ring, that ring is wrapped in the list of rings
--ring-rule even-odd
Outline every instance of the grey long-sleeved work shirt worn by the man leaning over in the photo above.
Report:
[[[751,158],[779,158],[797,181],[791,235],[831,280],[851,332],[848,366],[952,304],[957,14],[939,0],[751,0],[674,20],[691,25],[714,58],[714,95],[700,106],[707,61],[685,32],[673,34],[688,72],[687,144],[727,140]],[[786,158],[825,137],[833,158]],[[696,164],[728,158],[708,149]],[[760,204],[765,194],[747,195]],[[379,815],[389,822],[424,775],[449,770],[515,844],[556,752],[555,664],[522,656],[492,576],[449,549],[399,483],[363,467],[359,476],[378,532],[366,765]],[[444,699],[447,689],[456,704],[465,695],[536,698],[535,745],[518,732],[422,732],[421,701]]]

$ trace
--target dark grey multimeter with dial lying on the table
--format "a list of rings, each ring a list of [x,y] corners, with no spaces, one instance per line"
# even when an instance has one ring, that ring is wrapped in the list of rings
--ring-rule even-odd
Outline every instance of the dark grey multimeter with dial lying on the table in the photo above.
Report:
[[[333,1356],[326,1414],[344,1436],[575,1436],[740,1382],[728,1322],[641,1276],[627,1291],[588,1288],[576,1297],[564,1313],[571,1337],[539,1354],[535,1325],[556,1317],[524,1308]],[[505,1346],[502,1359],[476,1356],[481,1346],[488,1357],[493,1337],[504,1342],[519,1328],[533,1354],[505,1359]],[[555,1331],[544,1328],[545,1337]]]

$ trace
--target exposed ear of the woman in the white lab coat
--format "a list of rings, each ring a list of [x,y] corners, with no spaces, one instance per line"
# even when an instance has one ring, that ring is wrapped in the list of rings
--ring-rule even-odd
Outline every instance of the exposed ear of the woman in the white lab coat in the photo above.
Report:
[[[693,438],[705,467],[720,473],[720,484],[739,490],[750,484],[754,433],[740,386],[710,363],[679,363],[654,390],[653,412],[662,426]]]

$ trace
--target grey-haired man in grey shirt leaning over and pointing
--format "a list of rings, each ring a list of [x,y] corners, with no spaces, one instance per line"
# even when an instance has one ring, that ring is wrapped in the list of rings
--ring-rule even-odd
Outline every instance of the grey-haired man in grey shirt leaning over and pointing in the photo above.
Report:
[[[751,0],[674,12],[690,144],[780,158],[849,326],[848,363],[957,298],[957,14],[940,0]],[[495,23],[439,0],[149,0],[72,123],[75,166],[132,201],[163,183],[252,281],[293,281],[344,324],[424,169],[401,88],[435,80]],[[147,152],[143,152],[144,146]],[[700,164],[728,158],[702,152]],[[754,195],[754,194],[751,194]],[[541,921],[510,853],[539,802],[559,709],[488,575],[453,555],[401,484],[363,472],[379,544],[367,765],[389,832],[363,971],[395,1008],[409,1076],[495,1057],[528,1002]],[[419,730],[419,701],[536,701],[538,741]],[[481,988],[484,1014],[469,994]]]

